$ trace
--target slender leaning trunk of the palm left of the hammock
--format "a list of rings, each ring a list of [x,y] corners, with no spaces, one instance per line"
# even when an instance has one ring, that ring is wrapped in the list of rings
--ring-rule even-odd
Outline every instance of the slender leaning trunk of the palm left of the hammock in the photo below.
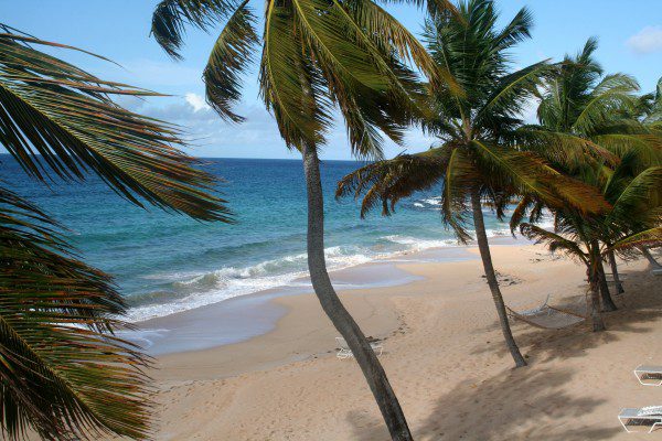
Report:
[[[520,353],[517,343],[515,343],[515,338],[513,337],[513,333],[510,329],[508,313],[505,312],[505,304],[503,303],[503,297],[501,295],[501,290],[499,289],[499,281],[496,280],[494,267],[492,266],[490,244],[488,243],[488,235],[485,234],[485,223],[482,215],[482,207],[480,205],[480,194],[476,190],[471,192],[471,208],[473,209],[473,226],[476,228],[478,249],[480,250],[480,257],[483,262],[483,269],[485,271],[485,278],[488,279],[488,286],[490,287],[490,291],[492,292],[492,299],[494,300],[494,305],[496,306],[496,312],[499,313],[499,323],[501,324],[501,332],[503,332],[503,337],[505,338],[508,349],[510,351],[511,355],[513,356],[513,359],[515,361],[515,366],[526,366],[526,362]]]

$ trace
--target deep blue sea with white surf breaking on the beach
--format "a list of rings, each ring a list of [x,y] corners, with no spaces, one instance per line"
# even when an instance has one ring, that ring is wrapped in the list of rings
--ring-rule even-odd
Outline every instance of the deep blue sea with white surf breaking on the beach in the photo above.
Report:
[[[225,180],[221,190],[237,220],[225,225],[139,208],[95,176],[49,189],[11,157],[0,160],[0,179],[64,224],[86,261],[116,278],[132,321],[297,283],[307,272],[301,161],[205,160],[205,170]],[[457,244],[441,225],[439,189],[403,201],[391,217],[377,209],[361,219],[356,202],[337,201],[335,183],[359,165],[322,162],[330,269]],[[485,215],[492,236],[508,234],[506,225]]]

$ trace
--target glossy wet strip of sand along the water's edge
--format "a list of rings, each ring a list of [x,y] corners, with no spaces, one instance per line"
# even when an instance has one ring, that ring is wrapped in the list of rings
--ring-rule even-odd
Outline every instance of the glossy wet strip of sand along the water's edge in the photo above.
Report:
[[[531,244],[526,239],[515,239],[510,236],[492,238],[492,243],[493,246]],[[332,270],[330,276],[339,294],[356,290],[403,287],[419,278],[403,270],[401,266],[478,259],[471,251],[473,248],[476,248],[474,244],[468,244],[406,251],[398,256]],[[191,310],[136,322],[137,331],[125,332],[121,335],[140,344],[153,356],[236,344],[264,335],[276,327],[277,322],[287,314],[287,308],[278,299],[312,293],[310,280],[303,277],[296,279],[289,286],[237,295]]]

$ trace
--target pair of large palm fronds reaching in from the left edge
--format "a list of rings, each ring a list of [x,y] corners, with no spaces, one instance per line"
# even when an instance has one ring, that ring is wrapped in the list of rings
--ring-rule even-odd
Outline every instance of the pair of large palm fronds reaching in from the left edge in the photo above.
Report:
[[[135,204],[227,222],[214,179],[173,146],[177,129],[117,106],[156,95],[41,52],[68,49],[0,25],[0,143],[40,182],[92,172]],[[78,259],[62,227],[0,185],[0,406],[3,438],[149,435],[150,359],[114,335],[127,305]]]

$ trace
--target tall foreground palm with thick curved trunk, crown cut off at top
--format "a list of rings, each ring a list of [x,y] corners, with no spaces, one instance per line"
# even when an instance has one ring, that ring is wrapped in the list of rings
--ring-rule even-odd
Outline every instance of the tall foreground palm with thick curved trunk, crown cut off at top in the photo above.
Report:
[[[452,14],[448,0],[401,0],[427,6],[433,15]],[[382,135],[402,140],[403,128],[419,114],[421,87],[405,62],[434,84],[449,82],[421,44],[372,0],[271,0],[264,8],[264,31],[248,0],[163,0],[154,11],[152,34],[180,57],[186,25],[220,29],[203,73],[206,99],[228,121],[242,121],[233,106],[242,75],[261,46],[260,95],[280,135],[303,159],[308,194],[308,267],[327,315],[346,340],[380,406],[394,440],[412,439],[397,398],[363,332],[338,298],[324,261],[323,200],[319,150],[333,120],[344,118],[352,152],[380,157]]]

